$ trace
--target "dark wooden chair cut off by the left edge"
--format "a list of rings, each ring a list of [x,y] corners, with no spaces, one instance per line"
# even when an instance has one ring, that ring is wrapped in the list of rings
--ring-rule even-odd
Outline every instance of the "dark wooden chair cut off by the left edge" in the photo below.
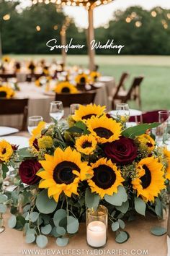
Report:
[[[0,99],[0,116],[23,114],[20,131],[27,130],[28,99]],[[18,127],[17,127],[18,128]]]

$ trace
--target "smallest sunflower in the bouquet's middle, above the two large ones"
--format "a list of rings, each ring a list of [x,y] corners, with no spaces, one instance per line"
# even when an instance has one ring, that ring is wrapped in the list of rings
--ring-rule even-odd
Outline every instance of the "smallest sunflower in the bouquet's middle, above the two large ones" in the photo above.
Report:
[[[76,150],[85,155],[90,155],[97,147],[97,140],[91,135],[82,135],[76,139]]]

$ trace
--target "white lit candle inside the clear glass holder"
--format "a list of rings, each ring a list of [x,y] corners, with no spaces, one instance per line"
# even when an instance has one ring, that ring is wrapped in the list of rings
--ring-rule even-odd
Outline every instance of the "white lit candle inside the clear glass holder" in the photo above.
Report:
[[[102,221],[92,221],[86,229],[87,243],[91,247],[103,247],[107,240],[107,227]]]

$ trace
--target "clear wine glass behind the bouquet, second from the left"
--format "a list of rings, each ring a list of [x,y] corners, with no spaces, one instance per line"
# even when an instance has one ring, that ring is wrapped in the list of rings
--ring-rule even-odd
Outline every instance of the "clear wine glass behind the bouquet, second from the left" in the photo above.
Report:
[[[50,117],[56,121],[60,121],[64,115],[62,101],[52,101],[50,103]]]

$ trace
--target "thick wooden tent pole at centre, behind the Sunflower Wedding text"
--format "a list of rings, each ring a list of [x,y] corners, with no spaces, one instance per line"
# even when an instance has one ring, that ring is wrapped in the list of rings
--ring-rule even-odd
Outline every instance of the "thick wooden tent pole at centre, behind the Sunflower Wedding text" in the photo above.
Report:
[[[93,9],[89,8],[88,10],[89,16],[89,28],[88,28],[88,51],[89,51],[89,69],[94,70],[94,56],[95,50],[91,50],[91,41],[94,40],[94,18],[93,18]]]

